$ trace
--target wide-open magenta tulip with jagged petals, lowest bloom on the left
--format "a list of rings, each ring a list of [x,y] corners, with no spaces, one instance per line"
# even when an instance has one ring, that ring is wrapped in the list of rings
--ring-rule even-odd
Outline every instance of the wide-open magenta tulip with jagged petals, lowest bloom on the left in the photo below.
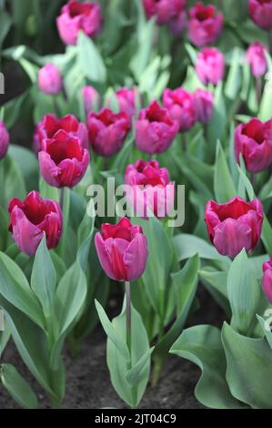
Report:
[[[62,233],[62,212],[55,200],[42,199],[32,191],[25,200],[14,198],[9,202],[9,231],[18,248],[33,256],[44,237],[48,249],[54,249]]]

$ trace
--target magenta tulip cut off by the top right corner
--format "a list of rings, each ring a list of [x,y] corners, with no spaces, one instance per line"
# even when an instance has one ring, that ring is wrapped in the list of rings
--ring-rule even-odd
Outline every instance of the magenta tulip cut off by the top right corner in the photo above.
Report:
[[[272,0],[249,0],[249,15],[264,30],[272,28]]]

